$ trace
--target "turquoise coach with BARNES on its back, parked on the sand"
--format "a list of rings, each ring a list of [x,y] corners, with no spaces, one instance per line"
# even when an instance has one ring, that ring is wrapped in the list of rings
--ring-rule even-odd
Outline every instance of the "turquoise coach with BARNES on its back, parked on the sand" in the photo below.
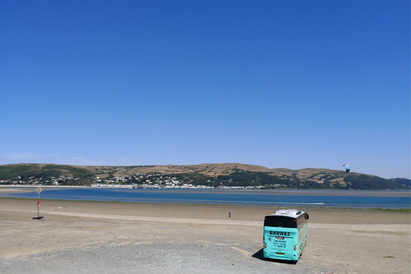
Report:
[[[308,214],[299,210],[277,210],[264,218],[264,258],[297,260],[307,242]]]

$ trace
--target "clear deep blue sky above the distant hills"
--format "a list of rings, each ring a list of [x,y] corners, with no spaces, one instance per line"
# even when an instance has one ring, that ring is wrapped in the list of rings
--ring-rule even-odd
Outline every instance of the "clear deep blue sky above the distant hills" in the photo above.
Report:
[[[1,1],[0,164],[410,178],[410,1]]]

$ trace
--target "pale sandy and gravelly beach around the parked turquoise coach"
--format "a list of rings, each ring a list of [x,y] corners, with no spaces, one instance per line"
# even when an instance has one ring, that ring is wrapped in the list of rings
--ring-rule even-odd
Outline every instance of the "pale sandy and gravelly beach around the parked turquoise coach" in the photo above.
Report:
[[[232,218],[228,210],[232,210]],[[410,273],[409,213],[310,214],[297,264],[264,260],[280,208],[0,199],[0,273]]]

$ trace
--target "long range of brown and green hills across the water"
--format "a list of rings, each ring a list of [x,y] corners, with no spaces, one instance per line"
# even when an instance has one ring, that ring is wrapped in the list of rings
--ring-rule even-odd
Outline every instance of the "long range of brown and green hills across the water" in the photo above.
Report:
[[[137,175],[138,174],[138,175]],[[409,190],[409,179],[384,179],[332,169],[269,169],[252,164],[197,164],[163,166],[72,166],[60,164],[0,165],[0,184],[90,185],[104,180],[143,184],[148,177],[174,177],[204,186],[255,186],[287,189]],[[144,176],[143,176],[144,175]]]

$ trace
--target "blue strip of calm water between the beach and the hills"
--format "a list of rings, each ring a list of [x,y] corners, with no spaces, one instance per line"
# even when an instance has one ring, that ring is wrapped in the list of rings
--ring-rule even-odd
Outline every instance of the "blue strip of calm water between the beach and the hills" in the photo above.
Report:
[[[27,188],[19,188],[27,190]],[[37,198],[31,192],[0,192],[0,197]],[[396,193],[396,194],[395,194]],[[398,195],[399,193],[399,195]],[[293,195],[294,194],[294,195]],[[392,194],[392,195],[391,195]],[[364,195],[364,196],[361,196]],[[386,197],[388,196],[388,197]],[[400,197],[399,197],[400,196]],[[405,196],[405,197],[401,197]],[[338,190],[190,190],[129,188],[43,188],[40,199],[202,203],[247,206],[338,208],[410,208],[410,192],[341,192]],[[324,202],[324,203],[323,203]]]

